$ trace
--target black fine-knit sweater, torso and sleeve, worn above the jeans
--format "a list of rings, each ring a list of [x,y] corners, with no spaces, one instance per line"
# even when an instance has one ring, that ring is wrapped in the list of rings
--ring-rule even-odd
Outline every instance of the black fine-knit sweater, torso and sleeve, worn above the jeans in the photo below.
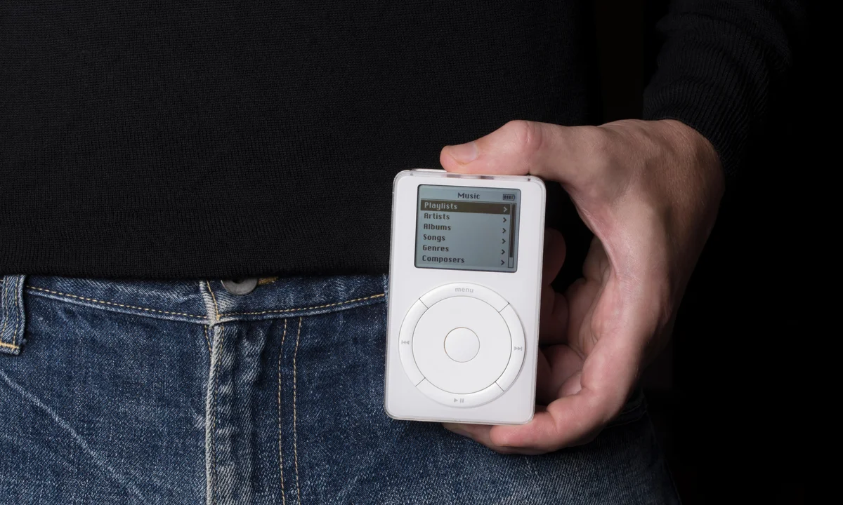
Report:
[[[644,119],[729,176],[798,2],[679,0]],[[591,3],[0,3],[0,274],[385,272],[391,183],[508,120],[599,122]],[[551,191],[550,221],[575,215]]]

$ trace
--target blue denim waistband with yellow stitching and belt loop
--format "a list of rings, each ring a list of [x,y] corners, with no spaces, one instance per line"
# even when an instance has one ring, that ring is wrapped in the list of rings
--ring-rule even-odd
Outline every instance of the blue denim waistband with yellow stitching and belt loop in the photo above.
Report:
[[[261,279],[250,293],[229,292],[221,280],[109,280],[6,275],[0,301],[0,352],[24,345],[24,295],[139,316],[214,325],[350,309],[386,297],[386,275]]]

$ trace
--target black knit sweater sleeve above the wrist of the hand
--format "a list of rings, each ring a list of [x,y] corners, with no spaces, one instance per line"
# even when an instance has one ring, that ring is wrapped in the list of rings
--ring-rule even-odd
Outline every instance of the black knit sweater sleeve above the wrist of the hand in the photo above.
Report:
[[[679,120],[714,146],[727,179],[741,170],[787,93],[806,28],[805,0],[673,0],[644,90],[643,119]]]

